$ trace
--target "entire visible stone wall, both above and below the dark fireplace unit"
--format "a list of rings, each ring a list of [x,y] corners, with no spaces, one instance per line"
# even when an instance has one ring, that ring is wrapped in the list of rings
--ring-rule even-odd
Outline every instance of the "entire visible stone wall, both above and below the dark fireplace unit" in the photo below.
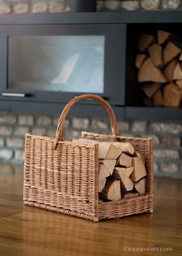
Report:
[[[99,12],[182,9],[182,0],[97,1]],[[69,0],[0,0],[0,14],[69,12]],[[57,117],[0,111],[0,161],[23,162],[26,132],[54,137]],[[154,138],[154,171],[157,176],[182,178],[182,125],[147,121],[119,122],[120,135]],[[65,139],[79,137],[80,131],[110,133],[106,120],[69,118]]]

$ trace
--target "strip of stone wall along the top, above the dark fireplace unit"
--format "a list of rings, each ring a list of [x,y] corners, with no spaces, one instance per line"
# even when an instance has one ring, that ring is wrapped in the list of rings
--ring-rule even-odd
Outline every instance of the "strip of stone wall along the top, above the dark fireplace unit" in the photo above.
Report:
[[[97,1],[98,12],[182,9],[181,0],[104,0]],[[0,0],[2,13],[69,12],[69,0]]]

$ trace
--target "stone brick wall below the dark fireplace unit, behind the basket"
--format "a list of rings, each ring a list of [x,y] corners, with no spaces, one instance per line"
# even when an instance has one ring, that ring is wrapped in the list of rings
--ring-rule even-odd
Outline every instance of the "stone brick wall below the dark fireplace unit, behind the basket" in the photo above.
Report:
[[[23,162],[26,132],[54,137],[58,117],[47,114],[0,112],[0,161]],[[79,138],[80,131],[110,134],[106,119],[69,118],[65,139]],[[182,178],[182,125],[148,121],[119,121],[120,135],[154,138],[154,172],[157,176]]]

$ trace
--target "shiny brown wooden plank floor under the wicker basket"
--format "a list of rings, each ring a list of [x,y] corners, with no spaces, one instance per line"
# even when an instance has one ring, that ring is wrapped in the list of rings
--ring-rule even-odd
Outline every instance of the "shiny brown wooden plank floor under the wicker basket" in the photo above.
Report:
[[[155,179],[155,211],[93,223],[24,207],[22,166],[0,165],[0,255],[182,255],[182,183]]]

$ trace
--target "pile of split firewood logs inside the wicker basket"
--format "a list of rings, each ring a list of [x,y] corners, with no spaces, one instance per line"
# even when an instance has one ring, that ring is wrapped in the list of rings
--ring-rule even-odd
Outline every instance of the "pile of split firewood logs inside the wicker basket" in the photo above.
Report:
[[[133,145],[89,138],[79,138],[74,142],[99,144],[100,199],[116,201],[146,193],[145,159],[139,152],[135,152]]]

